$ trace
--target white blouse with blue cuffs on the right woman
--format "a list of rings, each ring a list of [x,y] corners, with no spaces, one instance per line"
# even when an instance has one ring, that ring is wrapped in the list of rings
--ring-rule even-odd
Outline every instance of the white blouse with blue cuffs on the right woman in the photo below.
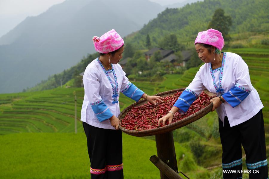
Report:
[[[227,115],[230,126],[247,121],[263,108],[258,92],[250,82],[247,64],[235,53],[225,52],[221,67],[211,69],[204,64],[175,103],[180,112],[186,112],[204,90],[222,95],[225,103],[217,108],[221,121]]]

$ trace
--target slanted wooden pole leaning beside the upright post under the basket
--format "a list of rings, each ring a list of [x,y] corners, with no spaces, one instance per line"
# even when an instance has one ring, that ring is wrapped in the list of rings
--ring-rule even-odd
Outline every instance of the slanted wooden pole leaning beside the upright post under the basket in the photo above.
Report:
[[[163,174],[169,179],[183,179],[177,172],[172,170],[168,165],[161,161],[156,155],[152,155],[149,159]]]

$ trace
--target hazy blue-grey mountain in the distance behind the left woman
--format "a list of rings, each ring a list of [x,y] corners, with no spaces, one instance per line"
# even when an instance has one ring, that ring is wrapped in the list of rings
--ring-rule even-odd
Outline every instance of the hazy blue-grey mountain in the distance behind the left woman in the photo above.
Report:
[[[135,32],[163,7],[148,0],[68,0],[0,38],[0,93],[19,92],[95,52],[92,36]]]

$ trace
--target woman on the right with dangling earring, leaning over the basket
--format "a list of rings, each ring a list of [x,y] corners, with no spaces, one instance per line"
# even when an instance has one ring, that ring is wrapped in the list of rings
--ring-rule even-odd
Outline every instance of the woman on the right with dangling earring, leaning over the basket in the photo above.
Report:
[[[218,30],[199,32],[195,40],[198,57],[205,63],[182,92],[171,111],[159,119],[169,124],[175,112],[186,112],[207,89],[213,98],[212,111],[219,116],[223,178],[242,178],[242,149],[246,153],[249,178],[268,179],[262,102],[250,82],[247,64],[235,53],[221,52],[224,39]]]

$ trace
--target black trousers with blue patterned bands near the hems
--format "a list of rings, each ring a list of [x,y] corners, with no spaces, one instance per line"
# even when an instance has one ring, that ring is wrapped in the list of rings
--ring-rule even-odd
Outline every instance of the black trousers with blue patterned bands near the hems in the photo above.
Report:
[[[242,124],[230,127],[227,116],[220,119],[219,133],[222,144],[223,178],[242,178],[242,148],[251,179],[267,179],[268,167],[265,149],[265,131],[262,110]],[[235,171],[236,170],[236,171]],[[255,171],[254,171],[255,170]],[[234,173],[231,173],[234,172]]]

